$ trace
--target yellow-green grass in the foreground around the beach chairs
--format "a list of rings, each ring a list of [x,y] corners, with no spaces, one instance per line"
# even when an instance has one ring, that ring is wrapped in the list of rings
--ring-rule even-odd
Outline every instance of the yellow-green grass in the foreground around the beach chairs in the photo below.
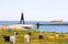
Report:
[[[58,33],[59,36],[58,38],[55,37],[55,33],[52,32],[43,32],[44,34],[44,40],[39,40],[38,35],[39,35],[39,31],[37,30],[29,30],[29,31],[23,31],[23,30],[16,30],[18,31],[18,35],[16,35],[16,43],[15,44],[68,44],[68,33]],[[29,32],[31,32],[31,41],[29,43],[24,42],[24,35],[27,34]],[[13,35],[14,30],[12,30],[11,33],[8,32],[8,30],[1,30],[0,31],[0,44],[12,44],[10,42],[4,42],[2,38],[2,35]],[[64,36],[64,34],[67,34]],[[48,36],[54,36],[54,41],[49,42],[48,41]]]

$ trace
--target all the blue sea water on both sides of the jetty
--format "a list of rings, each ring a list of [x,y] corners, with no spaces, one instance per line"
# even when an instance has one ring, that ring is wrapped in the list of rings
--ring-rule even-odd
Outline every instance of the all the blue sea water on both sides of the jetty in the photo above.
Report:
[[[19,24],[20,21],[0,21],[0,25],[2,24]],[[68,22],[49,22],[49,21],[25,21],[26,24],[36,24],[39,22],[39,24],[53,24],[53,23],[65,23],[68,24]],[[37,30],[36,26],[31,26],[33,30]],[[68,25],[39,25],[39,31],[47,31],[47,32],[59,32],[59,33],[68,33]]]

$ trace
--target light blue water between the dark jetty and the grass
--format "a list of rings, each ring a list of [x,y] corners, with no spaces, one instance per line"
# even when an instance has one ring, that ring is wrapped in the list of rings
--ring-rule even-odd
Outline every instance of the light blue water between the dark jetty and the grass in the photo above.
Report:
[[[36,29],[36,26],[33,26],[33,29]],[[36,29],[37,30],[37,29]],[[39,31],[47,31],[47,32],[52,32],[52,31],[55,31],[55,32],[68,32],[68,25],[41,25]]]

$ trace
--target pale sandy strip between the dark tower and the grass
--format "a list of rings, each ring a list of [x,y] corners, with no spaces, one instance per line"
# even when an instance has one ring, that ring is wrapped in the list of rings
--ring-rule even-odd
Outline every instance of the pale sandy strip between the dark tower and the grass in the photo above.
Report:
[[[30,26],[35,26],[35,25],[33,25],[33,24],[8,24],[8,25],[0,25],[0,30],[2,30],[2,29],[5,30],[5,29],[9,29],[9,28],[18,29],[18,30],[20,30],[20,29],[27,30],[25,28],[30,28]]]

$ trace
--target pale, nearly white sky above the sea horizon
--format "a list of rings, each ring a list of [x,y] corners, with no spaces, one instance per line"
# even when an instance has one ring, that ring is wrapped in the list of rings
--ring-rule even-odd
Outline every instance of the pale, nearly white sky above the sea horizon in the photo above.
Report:
[[[0,21],[68,21],[68,0],[0,0]]]

